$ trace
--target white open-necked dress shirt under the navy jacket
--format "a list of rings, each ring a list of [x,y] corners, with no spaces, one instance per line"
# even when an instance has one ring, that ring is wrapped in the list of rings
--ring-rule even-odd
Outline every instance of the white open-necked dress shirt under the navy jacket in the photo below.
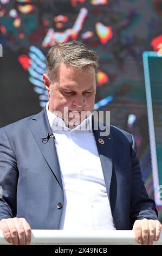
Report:
[[[46,108],[50,127],[56,136],[64,191],[60,229],[115,229],[92,131],[92,115],[71,130],[49,111],[48,103]]]

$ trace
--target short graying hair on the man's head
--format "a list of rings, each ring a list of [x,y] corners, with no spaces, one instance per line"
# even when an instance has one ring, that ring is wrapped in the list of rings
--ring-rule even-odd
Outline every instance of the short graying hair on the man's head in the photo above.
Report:
[[[46,74],[50,81],[57,79],[57,70],[61,63],[77,69],[98,70],[98,56],[80,41],[69,41],[51,47],[46,58]]]

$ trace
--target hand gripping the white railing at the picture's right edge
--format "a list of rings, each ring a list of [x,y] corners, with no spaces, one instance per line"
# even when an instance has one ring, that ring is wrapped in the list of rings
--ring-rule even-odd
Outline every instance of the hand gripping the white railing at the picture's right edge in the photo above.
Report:
[[[135,239],[142,245],[152,245],[153,241],[158,241],[162,225],[157,220],[137,220],[134,222],[133,230]]]

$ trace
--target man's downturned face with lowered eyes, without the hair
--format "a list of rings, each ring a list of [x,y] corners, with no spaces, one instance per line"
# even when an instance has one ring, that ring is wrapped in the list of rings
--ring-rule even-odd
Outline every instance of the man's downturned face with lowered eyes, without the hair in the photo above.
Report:
[[[85,119],[83,112],[93,111],[96,93],[95,71],[79,70],[62,63],[57,80],[47,89],[49,110],[60,116],[57,113],[59,111],[67,125],[69,122],[72,124],[74,118],[75,125],[80,124]],[[67,113],[65,116],[64,107],[68,107],[68,119]]]

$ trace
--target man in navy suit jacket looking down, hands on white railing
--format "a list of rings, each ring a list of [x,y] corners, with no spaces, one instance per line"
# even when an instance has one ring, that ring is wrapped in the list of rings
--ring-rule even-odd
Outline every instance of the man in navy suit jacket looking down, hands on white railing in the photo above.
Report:
[[[28,245],[31,229],[133,228],[142,245],[159,239],[133,136],[94,129],[97,68],[81,42],[51,47],[47,107],[0,130],[0,228],[14,245]]]

